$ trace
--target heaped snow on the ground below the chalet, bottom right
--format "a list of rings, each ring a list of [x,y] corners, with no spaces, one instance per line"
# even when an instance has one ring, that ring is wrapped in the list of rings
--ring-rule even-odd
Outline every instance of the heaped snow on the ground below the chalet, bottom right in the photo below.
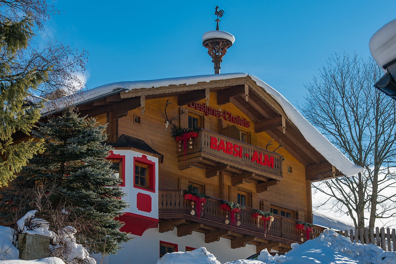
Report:
[[[316,239],[299,245],[284,256],[271,256],[265,249],[257,260],[236,260],[226,264],[394,264],[396,253],[385,252],[375,245],[351,243],[335,231],[327,229]],[[157,264],[221,264],[204,247],[190,252],[167,253]]]

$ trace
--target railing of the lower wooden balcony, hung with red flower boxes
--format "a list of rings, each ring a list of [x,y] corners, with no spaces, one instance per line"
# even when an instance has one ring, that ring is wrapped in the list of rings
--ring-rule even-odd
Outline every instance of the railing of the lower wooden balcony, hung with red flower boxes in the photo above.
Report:
[[[190,214],[191,201],[184,199],[184,192],[182,190],[160,190],[158,199],[158,211],[161,218],[186,218],[190,221],[201,222],[211,226],[240,231],[246,235],[259,235],[264,238],[264,221],[259,221],[257,226],[257,218],[253,218],[252,214],[257,209],[246,207],[241,210],[240,226],[231,226],[225,224],[226,212],[220,209],[221,200],[210,198],[206,199],[204,204],[203,215],[198,219],[196,216]],[[274,221],[269,230],[267,230],[267,237],[278,238],[278,240],[285,239],[287,241],[301,242],[301,230],[296,229],[298,220],[274,215]],[[310,232],[310,239],[318,237],[324,228],[315,226],[314,231]],[[306,240],[306,232],[303,231],[303,239]]]

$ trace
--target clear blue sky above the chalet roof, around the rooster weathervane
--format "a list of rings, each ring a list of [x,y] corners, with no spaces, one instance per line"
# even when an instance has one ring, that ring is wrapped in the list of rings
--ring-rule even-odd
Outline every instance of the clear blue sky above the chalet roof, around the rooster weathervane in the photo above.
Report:
[[[213,74],[202,34],[220,30],[234,45],[221,73],[250,73],[303,101],[310,81],[334,52],[369,56],[370,37],[396,18],[396,1],[86,1],[56,0],[61,10],[42,36],[88,50],[87,86]],[[381,14],[381,15],[379,15]]]

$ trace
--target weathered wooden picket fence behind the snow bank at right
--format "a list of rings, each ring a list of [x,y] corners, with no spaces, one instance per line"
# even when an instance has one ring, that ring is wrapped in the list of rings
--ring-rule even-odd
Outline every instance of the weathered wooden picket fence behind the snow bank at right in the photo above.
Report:
[[[341,235],[349,237],[352,243],[374,244],[384,251],[396,252],[396,230],[390,228],[361,228],[341,231]]]

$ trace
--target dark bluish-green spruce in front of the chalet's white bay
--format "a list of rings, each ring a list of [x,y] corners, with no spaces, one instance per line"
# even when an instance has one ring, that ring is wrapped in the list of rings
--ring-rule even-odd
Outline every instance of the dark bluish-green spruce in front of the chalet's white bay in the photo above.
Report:
[[[104,144],[104,132],[105,126],[95,119],[72,111],[40,124],[37,136],[46,151],[35,155],[3,191],[0,216],[12,222],[38,209],[51,230],[76,228],[78,243],[90,253],[116,254],[120,244],[131,239],[114,220],[128,205],[106,159],[111,148]]]

